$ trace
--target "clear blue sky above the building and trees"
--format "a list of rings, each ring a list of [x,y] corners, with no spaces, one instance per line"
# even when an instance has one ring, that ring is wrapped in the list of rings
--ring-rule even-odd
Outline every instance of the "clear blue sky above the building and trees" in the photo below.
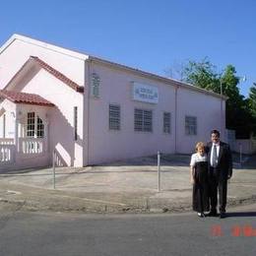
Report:
[[[162,76],[208,56],[219,72],[232,64],[246,75],[239,88],[248,96],[255,13],[254,0],[10,0],[1,3],[0,44],[16,32]]]

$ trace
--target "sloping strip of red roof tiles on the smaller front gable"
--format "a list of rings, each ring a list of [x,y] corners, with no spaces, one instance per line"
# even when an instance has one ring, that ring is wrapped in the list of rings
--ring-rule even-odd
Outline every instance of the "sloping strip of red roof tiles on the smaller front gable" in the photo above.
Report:
[[[79,86],[77,83],[67,78],[61,72],[57,71],[56,69],[48,65],[46,62],[42,61],[40,58],[31,56],[30,59],[34,60],[37,64],[39,64],[41,68],[43,68],[44,70],[49,72],[51,75],[53,75],[55,78],[59,79],[60,81],[62,81],[63,83],[65,83],[66,85],[74,89],[76,92],[84,93],[84,87]]]

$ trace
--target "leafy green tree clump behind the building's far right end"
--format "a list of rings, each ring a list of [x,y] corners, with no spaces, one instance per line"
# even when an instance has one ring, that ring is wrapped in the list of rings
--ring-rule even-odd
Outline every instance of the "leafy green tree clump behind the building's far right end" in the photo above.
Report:
[[[235,68],[232,65],[227,65],[224,73],[219,74],[216,71],[216,66],[206,57],[201,62],[189,61],[184,67],[183,74],[184,82],[217,94],[221,93],[222,85],[223,95],[228,97],[225,107],[227,129],[235,130],[238,138],[249,137],[252,129],[252,117],[248,100],[239,93],[237,87],[239,77],[236,76]],[[256,93],[256,89],[254,93]],[[254,102],[256,101],[254,100]]]

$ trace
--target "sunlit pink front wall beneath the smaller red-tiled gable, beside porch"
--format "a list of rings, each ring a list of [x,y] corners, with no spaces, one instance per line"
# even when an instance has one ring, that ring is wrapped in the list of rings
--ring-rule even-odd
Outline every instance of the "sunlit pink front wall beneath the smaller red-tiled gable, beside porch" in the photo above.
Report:
[[[43,89],[43,90],[42,90]],[[83,94],[40,70],[23,93],[38,94],[55,104],[48,113],[49,152],[55,148],[67,165],[83,165]],[[78,106],[78,141],[74,141],[74,106]]]

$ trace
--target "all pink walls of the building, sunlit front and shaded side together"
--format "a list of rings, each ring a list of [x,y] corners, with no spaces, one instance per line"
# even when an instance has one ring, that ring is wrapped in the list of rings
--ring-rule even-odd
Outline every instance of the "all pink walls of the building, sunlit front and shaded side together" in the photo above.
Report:
[[[163,80],[129,71],[118,65],[86,61],[87,55],[30,38],[14,40],[0,49],[0,88],[3,88],[31,55],[38,56],[81,86],[77,93],[43,69],[32,69],[16,90],[42,96],[56,105],[47,109],[49,158],[56,149],[67,165],[82,166],[111,160],[163,153],[191,153],[195,143],[208,141],[213,128],[221,130],[221,99]],[[92,74],[100,78],[99,98],[90,96]],[[132,99],[132,82],[157,87],[158,104]],[[177,94],[175,94],[177,92]],[[121,129],[108,128],[109,104],[121,107]],[[74,141],[74,106],[78,106],[78,141]],[[153,132],[134,131],[134,109],[153,111]],[[177,112],[176,112],[177,110]],[[163,112],[171,114],[171,133],[162,131]],[[177,115],[176,115],[177,113]],[[185,116],[197,117],[197,135],[185,135]],[[176,122],[177,121],[177,122]],[[1,120],[0,120],[1,122]],[[175,124],[176,122],[176,124]]]

